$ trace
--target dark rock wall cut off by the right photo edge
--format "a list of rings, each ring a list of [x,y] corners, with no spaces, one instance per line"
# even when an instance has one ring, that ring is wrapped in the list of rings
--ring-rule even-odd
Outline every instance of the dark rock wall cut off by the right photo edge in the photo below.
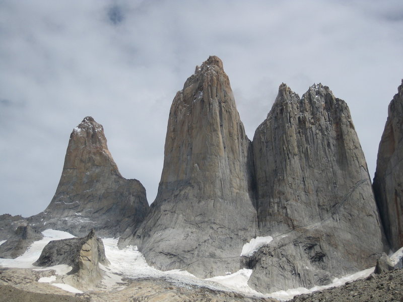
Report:
[[[390,248],[403,246],[403,80],[379,143],[374,194]]]

